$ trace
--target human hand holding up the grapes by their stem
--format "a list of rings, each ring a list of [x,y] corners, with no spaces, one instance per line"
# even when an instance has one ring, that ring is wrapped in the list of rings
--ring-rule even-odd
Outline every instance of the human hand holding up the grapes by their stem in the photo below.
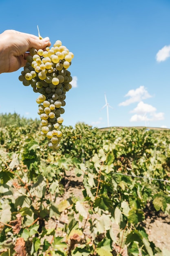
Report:
[[[38,36],[15,30],[5,30],[0,34],[0,73],[13,72],[26,64],[26,56],[31,48],[44,49],[50,46],[49,37]]]

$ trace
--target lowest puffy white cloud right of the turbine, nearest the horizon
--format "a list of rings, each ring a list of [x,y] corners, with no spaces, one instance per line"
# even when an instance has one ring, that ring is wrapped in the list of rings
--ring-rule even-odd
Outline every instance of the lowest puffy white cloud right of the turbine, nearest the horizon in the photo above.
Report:
[[[157,109],[152,105],[146,104],[143,101],[140,101],[137,104],[137,107],[134,108],[132,113],[136,113],[130,118],[130,122],[139,122],[139,121],[157,121],[164,119],[163,112],[156,112]]]

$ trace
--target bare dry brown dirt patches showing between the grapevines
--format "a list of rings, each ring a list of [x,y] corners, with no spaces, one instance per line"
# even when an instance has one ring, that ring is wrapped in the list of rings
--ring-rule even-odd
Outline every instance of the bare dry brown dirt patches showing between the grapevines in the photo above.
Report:
[[[65,193],[62,198],[57,199],[57,203],[67,199],[73,194],[76,198],[83,198],[82,195],[82,177],[77,177],[73,172],[66,173],[64,178]],[[153,242],[161,251],[163,256],[170,256],[170,216],[160,213],[159,216],[154,216],[152,210],[148,209],[146,214],[146,220],[144,221],[144,227],[150,242]],[[67,222],[64,213],[60,218],[60,225],[62,228],[62,222]],[[61,234],[59,234],[61,235]],[[116,249],[116,248],[115,248]],[[118,248],[119,249],[119,248]],[[126,248],[124,248],[122,256],[128,256]]]

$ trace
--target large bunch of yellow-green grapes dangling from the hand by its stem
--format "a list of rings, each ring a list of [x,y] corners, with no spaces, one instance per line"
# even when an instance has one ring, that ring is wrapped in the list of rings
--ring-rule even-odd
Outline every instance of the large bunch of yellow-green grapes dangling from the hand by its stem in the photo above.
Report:
[[[33,88],[40,95],[36,99],[41,119],[41,134],[48,140],[48,146],[57,151],[60,148],[62,132],[60,126],[66,105],[66,92],[71,89],[71,73],[67,70],[74,57],[72,52],[57,40],[46,50],[30,49],[27,63],[19,76],[23,85]]]

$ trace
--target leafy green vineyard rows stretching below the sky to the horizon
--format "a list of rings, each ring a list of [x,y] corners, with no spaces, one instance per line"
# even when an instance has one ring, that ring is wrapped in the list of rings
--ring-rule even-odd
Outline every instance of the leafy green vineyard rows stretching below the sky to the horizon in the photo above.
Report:
[[[146,220],[170,214],[170,130],[62,127],[0,115],[0,255],[168,256]]]

